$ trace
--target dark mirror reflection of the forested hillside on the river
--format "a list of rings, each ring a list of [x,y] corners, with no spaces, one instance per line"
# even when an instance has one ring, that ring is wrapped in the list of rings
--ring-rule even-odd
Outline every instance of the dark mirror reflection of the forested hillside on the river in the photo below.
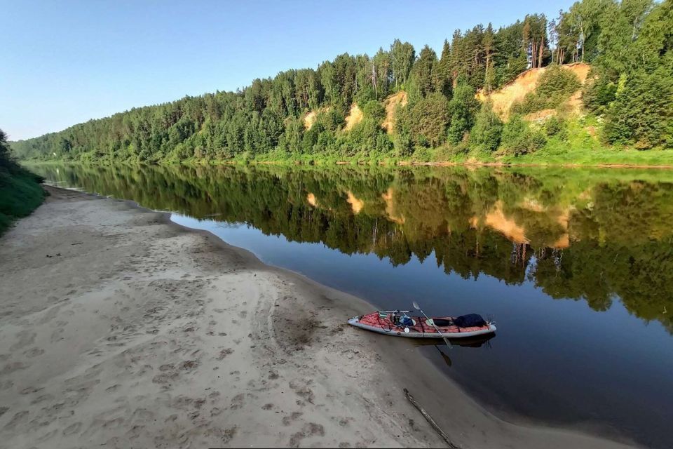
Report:
[[[522,283],[527,274],[552,297],[594,309],[619,295],[632,313],[673,330],[673,184],[575,179],[572,170],[37,169],[151,208],[217,214],[393,264],[433,255],[465,278]]]

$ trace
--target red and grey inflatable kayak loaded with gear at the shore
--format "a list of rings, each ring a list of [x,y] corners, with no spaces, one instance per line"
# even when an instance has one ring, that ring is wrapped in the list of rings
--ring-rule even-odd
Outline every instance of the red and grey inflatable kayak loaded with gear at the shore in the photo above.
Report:
[[[408,338],[469,338],[496,332],[496,325],[481,315],[407,316],[408,310],[377,310],[353,316],[348,324],[385,335]],[[439,332],[437,332],[439,330]],[[441,333],[441,335],[440,335]]]

